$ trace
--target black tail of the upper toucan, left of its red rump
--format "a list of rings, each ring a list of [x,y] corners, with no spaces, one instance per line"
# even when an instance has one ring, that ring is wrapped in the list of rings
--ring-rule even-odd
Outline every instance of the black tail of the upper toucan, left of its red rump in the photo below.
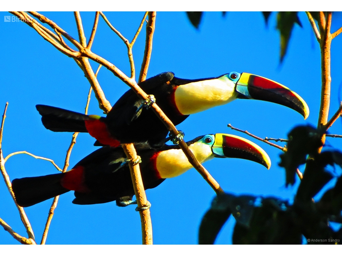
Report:
[[[48,105],[36,105],[45,128],[51,131],[88,132],[84,120],[89,116]]]

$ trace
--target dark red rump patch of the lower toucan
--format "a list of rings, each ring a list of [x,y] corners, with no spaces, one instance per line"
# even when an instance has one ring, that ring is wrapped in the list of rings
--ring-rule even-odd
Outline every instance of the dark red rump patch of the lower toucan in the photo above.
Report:
[[[61,180],[61,185],[69,190],[78,191],[81,193],[90,192],[86,184],[84,184],[84,168],[83,166],[77,166],[74,169],[65,173]]]

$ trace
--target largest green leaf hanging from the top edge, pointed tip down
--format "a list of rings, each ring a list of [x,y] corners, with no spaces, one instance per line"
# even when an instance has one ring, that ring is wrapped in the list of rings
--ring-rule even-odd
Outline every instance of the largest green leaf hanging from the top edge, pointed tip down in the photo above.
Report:
[[[291,37],[293,25],[297,23],[302,27],[298,12],[278,12],[277,29],[280,32],[280,62],[283,61]]]

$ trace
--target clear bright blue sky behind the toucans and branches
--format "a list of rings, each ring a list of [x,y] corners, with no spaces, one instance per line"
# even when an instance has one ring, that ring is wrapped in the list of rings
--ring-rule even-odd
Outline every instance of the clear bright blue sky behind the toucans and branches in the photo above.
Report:
[[[71,12],[43,13],[74,38],[78,38]],[[132,39],[143,12],[105,12],[110,22],[125,37]],[[2,16],[11,15],[1,12]],[[86,37],[93,24],[93,12],[81,12]],[[177,128],[191,140],[208,133],[232,133],[260,145],[272,160],[270,170],[241,159],[213,159],[204,164],[221,187],[236,194],[277,196],[290,201],[298,187],[285,188],[284,169],[278,167],[277,148],[227,128],[227,124],[248,130],[260,137],[286,138],[299,124],[317,125],[320,100],[320,50],[305,13],[299,14],[303,28],[295,25],[288,53],[279,64],[279,33],[273,13],[265,26],[260,12],[206,12],[198,30],[189,23],[185,12],[158,12],[153,52],[147,77],[172,71],[177,77],[196,79],[224,73],[248,72],[277,81],[298,93],[308,104],[307,120],[284,106],[255,100],[236,100],[202,113],[191,115]],[[331,31],[342,26],[342,15],[333,16]],[[22,22],[0,21],[0,112],[9,102],[2,148],[4,156],[26,150],[53,159],[63,167],[72,133],[55,133],[43,127],[36,104],[47,104],[83,112],[89,83],[75,61],[43,40]],[[145,31],[139,35],[133,56],[137,73],[141,65]],[[342,36],[331,47],[330,115],[338,109],[338,89],[342,83]],[[129,74],[126,46],[100,18],[92,50]],[[93,69],[97,64],[92,62]],[[98,74],[106,98],[113,105],[129,87],[110,71]],[[90,114],[102,114],[92,94]],[[330,133],[341,134],[338,120]],[[96,150],[95,139],[79,134],[70,158],[70,166]],[[284,145],[284,143],[279,143]],[[342,139],[328,138],[327,145],[341,148]],[[16,155],[6,162],[10,179],[56,173],[50,162],[27,155]],[[215,196],[200,174],[191,169],[146,191],[152,203],[151,216],[155,244],[196,244],[202,216]],[[72,204],[73,192],[60,197],[50,227],[47,244],[140,244],[140,217],[134,206],[119,208],[115,202],[97,205]],[[26,208],[25,211],[40,241],[52,199]],[[0,217],[16,232],[25,236],[15,204],[3,181],[0,181]],[[216,243],[232,240],[231,217]],[[1,244],[18,244],[10,234],[0,230]]]

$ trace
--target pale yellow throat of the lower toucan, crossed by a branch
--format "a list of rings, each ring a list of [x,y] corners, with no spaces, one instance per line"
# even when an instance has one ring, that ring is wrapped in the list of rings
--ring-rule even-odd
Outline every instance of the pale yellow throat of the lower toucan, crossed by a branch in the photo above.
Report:
[[[194,143],[189,148],[201,163],[214,157],[211,148],[204,143]],[[179,176],[193,166],[181,149],[171,149],[158,153],[155,157],[154,167],[159,176],[165,179]]]

